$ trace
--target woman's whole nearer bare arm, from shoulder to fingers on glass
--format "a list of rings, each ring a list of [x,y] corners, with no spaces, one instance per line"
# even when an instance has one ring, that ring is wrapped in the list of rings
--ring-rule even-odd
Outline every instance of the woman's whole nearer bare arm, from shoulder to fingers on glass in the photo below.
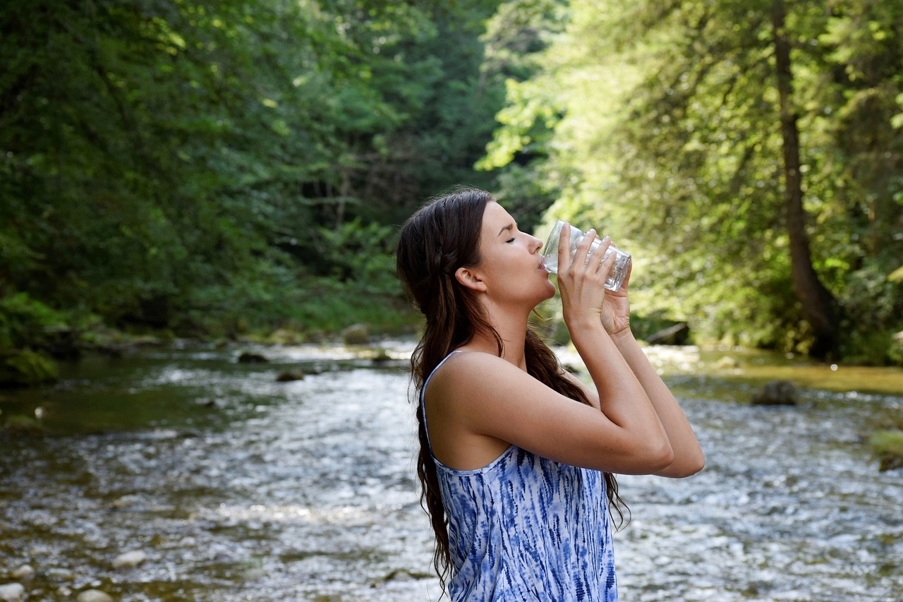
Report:
[[[566,228],[566,226],[565,226]],[[564,231],[562,239],[567,239]],[[564,321],[599,391],[600,409],[550,389],[489,353],[461,353],[434,375],[426,396],[437,457],[460,468],[483,466],[511,443],[573,466],[654,474],[674,462],[656,408],[602,326],[602,287],[610,259],[586,261],[591,236],[575,259],[559,248],[558,285]],[[598,256],[597,256],[598,257]]]

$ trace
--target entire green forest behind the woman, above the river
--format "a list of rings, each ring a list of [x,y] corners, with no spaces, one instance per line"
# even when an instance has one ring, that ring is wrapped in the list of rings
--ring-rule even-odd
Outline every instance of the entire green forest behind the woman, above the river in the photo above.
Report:
[[[414,332],[397,227],[455,183],[611,234],[638,334],[903,365],[899,0],[33,0],[0,31],[20,374]]]

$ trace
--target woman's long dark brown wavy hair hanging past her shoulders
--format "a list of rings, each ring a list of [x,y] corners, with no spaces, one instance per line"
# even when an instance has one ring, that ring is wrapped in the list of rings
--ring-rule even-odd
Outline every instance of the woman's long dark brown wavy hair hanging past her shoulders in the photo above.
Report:
[[[455,279],[461,267],[479,265],[479,233],[486,203],[495,199],[477,188],[456,187],[434,197],[414,213],[402,227],[396,247],[398,277],[408,298],[425,317],[424,335],[411,356],[411,373],[416,394],[416,417],[420,439],[417,476],[421,484],[420,502],[430,516],[436,545],[433,566],[445,589],[445,578],[452,567],[448,517],[442,506],[439,478],[426,437],[426,421],[420,395],[424,384],[439,362],[476,333],[489,333],[504,351],[501,336],[489,323],[476,297]],[[561,363],[542,338],[526,332],[527,372],[563,395],[588,404],[582,389],[564,376]],[[624,522],[626,505],[618,495],[614,475],[605,473],[609,512],[617,514],[617,525]]]

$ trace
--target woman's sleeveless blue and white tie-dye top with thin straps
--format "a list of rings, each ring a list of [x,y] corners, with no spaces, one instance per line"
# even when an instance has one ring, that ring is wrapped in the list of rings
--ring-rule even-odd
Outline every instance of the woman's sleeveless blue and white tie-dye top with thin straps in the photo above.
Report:
[[[452,602],[618,600],[599,471],[516,446],[476,470],[449,468],[435,456],[433,461],[448,516]]]

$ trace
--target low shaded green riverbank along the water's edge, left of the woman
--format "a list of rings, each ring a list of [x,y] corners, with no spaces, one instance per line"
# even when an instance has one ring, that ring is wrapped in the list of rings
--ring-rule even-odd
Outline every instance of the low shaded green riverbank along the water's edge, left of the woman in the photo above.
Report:
[[[209,344],[363,344],[413,334],[418,325],[404,301],[386,295],[337,295],[285,313],[297,316],[244,320],[210,315],[189,325],[175,319],[182,328],[116,326],[97,315],[63,314],[18,296],[14,303],[0,304],[0,390],[55,382],[59,362],[76,361],[84,354],[122,357],[147,348]]]

